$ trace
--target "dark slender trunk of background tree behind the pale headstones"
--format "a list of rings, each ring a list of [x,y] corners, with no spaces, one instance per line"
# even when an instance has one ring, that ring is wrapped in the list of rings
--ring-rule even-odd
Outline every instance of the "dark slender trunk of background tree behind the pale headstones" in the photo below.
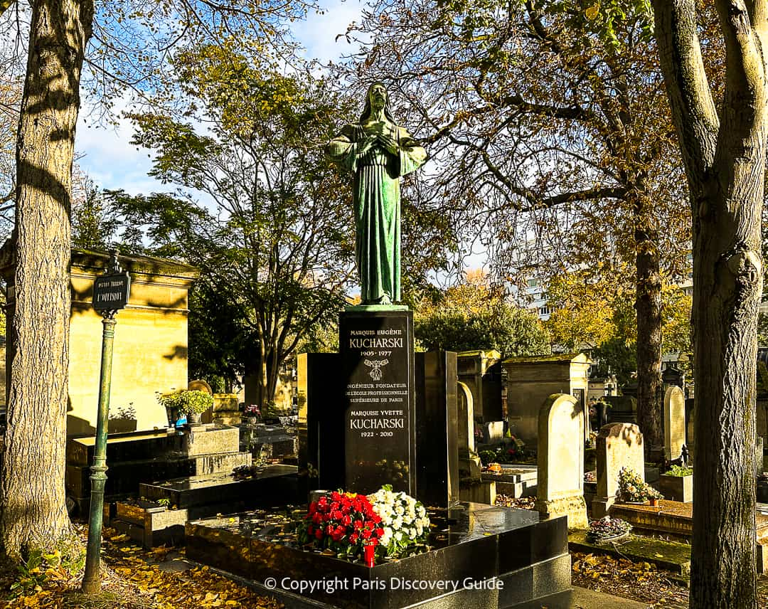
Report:
[[[635,204],[637,280],[637,424],[646,452],[664,445],[661,421],[661,276],[658,231],[650,201]]]

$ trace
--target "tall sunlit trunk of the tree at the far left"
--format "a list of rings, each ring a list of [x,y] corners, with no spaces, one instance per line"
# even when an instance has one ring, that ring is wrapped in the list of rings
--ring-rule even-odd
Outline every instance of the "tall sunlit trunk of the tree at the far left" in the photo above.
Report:
[[[2,543],[12,557],[71,535],[65,505],[70,183],[91,0],[32,8],[17,144],[15,309],[2,472]]]

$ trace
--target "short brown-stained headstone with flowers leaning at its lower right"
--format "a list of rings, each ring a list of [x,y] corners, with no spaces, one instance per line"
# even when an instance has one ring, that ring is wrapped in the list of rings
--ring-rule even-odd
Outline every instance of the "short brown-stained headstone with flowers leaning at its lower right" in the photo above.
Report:
[[[645,481],[643,434],[632,423],[604,425],[596,443],[598,492],[592,500],[592,517],[602,518],[616,501],[619,471],[634,469]]]

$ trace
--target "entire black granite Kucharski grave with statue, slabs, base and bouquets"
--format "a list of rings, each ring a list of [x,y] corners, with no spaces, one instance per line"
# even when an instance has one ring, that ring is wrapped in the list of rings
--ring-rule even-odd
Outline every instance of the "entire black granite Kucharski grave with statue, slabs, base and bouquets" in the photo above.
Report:
[[[362,303],[339,316],[339,354],[299,358],[300,475],[313,499],[284,508],[283,525],[249,512],[191,521],[187,558],[249,578],[291,606],[555,601],[571,584],[566,518],[456,501],[455,353],[417,360],[412,313],[396,304],[398,181],[419,167],[423,149],[395,124],[382,83],[328,152],[354,174]],[[339,479],[342,488],[331,485]],[[326,483],[339,490],[316,490]]]

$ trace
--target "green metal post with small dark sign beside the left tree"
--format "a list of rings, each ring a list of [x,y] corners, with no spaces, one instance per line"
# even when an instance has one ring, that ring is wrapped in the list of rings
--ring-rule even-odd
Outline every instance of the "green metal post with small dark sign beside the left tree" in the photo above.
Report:
[[[98,415],[96,419],[96,445],[91,467],[91,516],[88,518],[88,549],[85,554],[85,574],[81,590],[96,594],[101,590],[100,553],[101,525],[104,521],[104,484],[107,482],[107,421],[109,392],[112,383],[112,345],[114,343],[114,316],[124,309],[131,294],[131,276],[118,263],[118,253],[111,252],[109,268],[94,281],[93,305],[104,318],[101,335],[101,381],[98,389]]]

